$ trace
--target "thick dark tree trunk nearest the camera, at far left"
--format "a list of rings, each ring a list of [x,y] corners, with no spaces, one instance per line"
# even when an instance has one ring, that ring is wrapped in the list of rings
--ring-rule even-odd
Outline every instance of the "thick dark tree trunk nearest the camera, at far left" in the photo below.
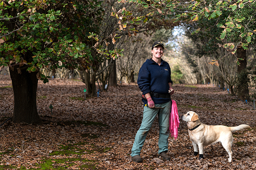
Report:
[[[11,81],[14,94],[14,123],[41,124],[42,120],[37,113],[37,73],[27,72],[21,69],[18,73],[18,67],[10,70]]]

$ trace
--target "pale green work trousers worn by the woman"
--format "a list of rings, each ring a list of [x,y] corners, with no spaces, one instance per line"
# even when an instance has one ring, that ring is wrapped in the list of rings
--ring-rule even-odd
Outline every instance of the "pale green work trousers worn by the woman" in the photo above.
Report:
[[[140,155],[142,146],[148,135],[153,122],[158,115],[159,125],[159,140],[158,140],[158,154],[164,151],[168,151],[168,137],[169,137],[169,118],[171,111],[171,101],[163,104],[155,104],[156,107],[163,107],[161,109],[152,109],[148,106],[144,106],[143,119],[141,126],[135,136],[135,141],[132,147],[131,156]]]

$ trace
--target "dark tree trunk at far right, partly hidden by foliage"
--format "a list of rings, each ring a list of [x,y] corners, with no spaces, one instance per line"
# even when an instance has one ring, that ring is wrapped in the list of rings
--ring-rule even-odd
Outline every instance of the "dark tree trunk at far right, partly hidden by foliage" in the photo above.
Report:
[[[237,66],[237,74],[239,74],[242,70],[244,70],[247,67],[246,50],[244,50],[242,47],[238,48],[236,50],[236,55],[237,55],[237,58],[242,58],[243,59],[243,60],[239,60],[240,65]],[[241,88],[241,91],[238,94],[238,98],[241,99],[241,100],[246,100],[247,99],[248,101],[250,101],[248,85],[246,85],[245,88]]]

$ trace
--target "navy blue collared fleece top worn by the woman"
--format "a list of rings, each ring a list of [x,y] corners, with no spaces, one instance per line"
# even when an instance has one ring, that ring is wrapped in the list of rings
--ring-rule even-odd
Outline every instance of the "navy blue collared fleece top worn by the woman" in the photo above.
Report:
[[[169,64],[161,59],[161,65],[159,66],[154,60],[147,59],[139,70],[137,83],[144,95],[150,91],[158,94],[168,94],[168,83],[173,83]],[[152,100],[155,104],[161,104],[169,102],[171,99],[152,97]],[[148,103],[147,100],[142,99],[142,101],[144,104]]]

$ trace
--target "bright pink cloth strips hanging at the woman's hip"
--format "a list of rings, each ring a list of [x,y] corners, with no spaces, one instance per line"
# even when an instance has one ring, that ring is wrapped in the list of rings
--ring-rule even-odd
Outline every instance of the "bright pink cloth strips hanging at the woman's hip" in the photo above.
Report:
[[[171,137],[174,136],[174,139],[176,140],[178,137],[178,127],[180,125],[180,120],[178,115],[177,104],[174,100],[171,100],[171,101],[172,101],[172,105],[171,105],[171,113],[170,113],[169,130],[171,133]]]

